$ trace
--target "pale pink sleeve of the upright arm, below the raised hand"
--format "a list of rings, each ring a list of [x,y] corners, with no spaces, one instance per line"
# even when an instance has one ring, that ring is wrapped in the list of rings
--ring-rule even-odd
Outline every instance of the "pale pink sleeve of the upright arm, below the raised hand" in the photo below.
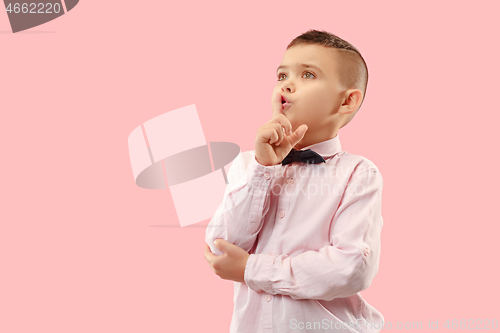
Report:
[[[245,157],[249,162],[245,163]],[[218,238],[250,252],[269,210],[275,167],[257,162],[252,151],[240,153],[233,161],[224,199],[205,232],[212,253],[223,254],[213,243]]]

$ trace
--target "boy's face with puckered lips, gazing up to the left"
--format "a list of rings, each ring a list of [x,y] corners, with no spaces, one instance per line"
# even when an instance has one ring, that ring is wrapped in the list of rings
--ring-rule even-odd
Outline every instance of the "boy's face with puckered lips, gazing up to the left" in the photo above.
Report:
[[[289,102],[282,110],[292,130],[307,125],[302,147],[333,137],[334,128],[341,126],[342,115],[337,111],[344,103],[345,89],[339,83],[335,57],[333,48],[299,44],[285,52],[278,67],[274,94]]]

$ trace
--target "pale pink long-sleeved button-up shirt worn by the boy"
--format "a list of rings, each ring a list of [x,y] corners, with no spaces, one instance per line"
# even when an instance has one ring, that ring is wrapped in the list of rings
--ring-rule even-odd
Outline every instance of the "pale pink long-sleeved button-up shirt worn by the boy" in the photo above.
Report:
[[[312,149],[326,163],[264,166],[240,153],[205,241],[250,253],[234,282],[231,333],[379,332],[383,316],[359,294],[378,272],[383,179],[339,135]]]

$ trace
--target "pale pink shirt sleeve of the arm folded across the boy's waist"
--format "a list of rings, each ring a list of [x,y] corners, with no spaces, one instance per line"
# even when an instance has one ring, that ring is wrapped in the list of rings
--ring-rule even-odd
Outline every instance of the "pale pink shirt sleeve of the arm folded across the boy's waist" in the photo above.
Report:
[[[293,257],[251,254],[245,283],[256,292],[326,301],[368,288],[380,259],[382,187],[378,169],[355,169],[332,220],[331,245]]]

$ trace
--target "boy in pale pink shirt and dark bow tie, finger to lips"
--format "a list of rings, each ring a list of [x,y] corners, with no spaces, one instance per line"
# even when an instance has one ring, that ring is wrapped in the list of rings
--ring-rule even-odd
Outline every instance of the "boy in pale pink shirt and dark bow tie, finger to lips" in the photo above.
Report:
[[[359,292],[378,272],[383,179],[337,133],[363,102],[366,64],[310,30],[277,78],[273,117],[233,161],[206,230],[205,258],[235,281],[230,332],[378,332],[384,318]]]

